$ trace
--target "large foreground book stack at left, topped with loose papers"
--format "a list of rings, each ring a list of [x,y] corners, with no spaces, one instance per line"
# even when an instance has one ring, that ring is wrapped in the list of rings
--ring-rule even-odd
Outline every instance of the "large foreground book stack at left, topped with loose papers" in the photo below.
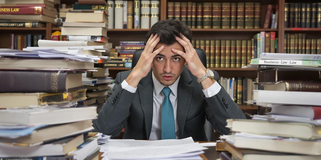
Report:
[[[10,49],[0,57],[0,157],[97,156],[98,137],[84,140],[96,107],[76,107],[86,99],[80,71],[93,69],[93,58]]]

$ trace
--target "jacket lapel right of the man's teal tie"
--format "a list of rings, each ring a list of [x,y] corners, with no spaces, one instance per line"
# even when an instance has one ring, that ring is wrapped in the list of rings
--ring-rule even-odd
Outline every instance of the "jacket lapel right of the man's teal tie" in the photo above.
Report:
[[[183,137],[186,116],[194,90],[194,86],[189,84],[191,81],[192,78],[190,77],[187,68],[185,68],[181,74],[177,88],[177,123],[180,134],[179,138]]]

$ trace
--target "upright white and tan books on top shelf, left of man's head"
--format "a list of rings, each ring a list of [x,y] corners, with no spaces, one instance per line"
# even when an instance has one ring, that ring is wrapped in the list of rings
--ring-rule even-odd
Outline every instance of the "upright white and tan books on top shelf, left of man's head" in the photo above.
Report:
[[[108,0],[109,28],[149,29],[160,19],[159,0]]]

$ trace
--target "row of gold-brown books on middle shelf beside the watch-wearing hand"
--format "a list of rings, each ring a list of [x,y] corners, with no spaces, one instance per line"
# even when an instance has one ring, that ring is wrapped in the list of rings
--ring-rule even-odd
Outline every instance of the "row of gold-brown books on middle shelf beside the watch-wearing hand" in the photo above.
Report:
[[[275,32],[264,32],[263,37],[260,35],[251,40],[192,40],[191,43],[193,47],[204,50],[207,67],[240,68],[261,53],[278,49]]]

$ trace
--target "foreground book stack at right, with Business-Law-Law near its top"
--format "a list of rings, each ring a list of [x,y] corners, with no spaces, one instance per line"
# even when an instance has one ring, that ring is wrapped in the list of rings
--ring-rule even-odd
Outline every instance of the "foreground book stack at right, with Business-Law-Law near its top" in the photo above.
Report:
[[[264,90],[255,90],[251,101],[272,110],[268,115],[254,115],[252,120],[227,120],[227,127],[233,134],[223,135],[221,139],[226,142],[225,148],[232,157],[321,158],[320,59],[320,55],[262,55],[260,61],[275,62],[271,64],[274,68],[259,71],[258,84],[263,85]],[[319,65],[305,67],[307,65],[303,61]],[[277,62],[284,65],[280,66]],[[286,62],[288,64],[285,65]],[[299,65],[299,62],[303,64]]]

